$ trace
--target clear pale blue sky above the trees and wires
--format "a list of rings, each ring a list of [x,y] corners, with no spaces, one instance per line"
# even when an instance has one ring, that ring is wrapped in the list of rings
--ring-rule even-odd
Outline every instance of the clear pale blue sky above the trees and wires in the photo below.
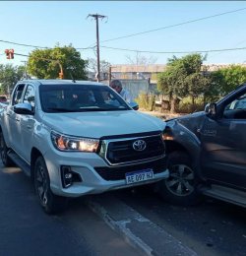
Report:
[[[36,49],[18,44],[72,44],[83,59],[96,59],[92,14],[105,16],[98,20],[99,53],[111,65],[129,64],[137,54],[166,64],[192,52],[207,54],[205,64],[246,63],[244,1],[0,1],[0,64],[28,60],[7,60],[5,49]]]

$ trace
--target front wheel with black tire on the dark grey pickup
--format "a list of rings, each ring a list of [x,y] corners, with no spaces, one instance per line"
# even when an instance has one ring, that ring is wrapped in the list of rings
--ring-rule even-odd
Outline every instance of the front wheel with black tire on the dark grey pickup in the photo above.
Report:
[[[173,152],[168,157],[169,177],[161,180],[158,191],[162,198],[174,205],[191,206],[197,204],[198,180],[189,156]]]

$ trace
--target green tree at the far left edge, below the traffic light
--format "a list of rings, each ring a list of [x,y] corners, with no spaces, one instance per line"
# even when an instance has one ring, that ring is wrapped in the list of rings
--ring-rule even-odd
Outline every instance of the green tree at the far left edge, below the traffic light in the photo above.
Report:
[[[0,94],[11,94],[16,83],[23,78],[24,71],[24,66],[0,65]]]

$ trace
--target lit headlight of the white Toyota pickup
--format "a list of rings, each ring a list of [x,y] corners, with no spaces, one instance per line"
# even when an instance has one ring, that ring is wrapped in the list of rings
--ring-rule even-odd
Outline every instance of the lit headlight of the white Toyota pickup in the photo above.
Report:
[[[91,138],[70,137],[51,132],[51,141],[59,151],[96,152],[99,140]]]

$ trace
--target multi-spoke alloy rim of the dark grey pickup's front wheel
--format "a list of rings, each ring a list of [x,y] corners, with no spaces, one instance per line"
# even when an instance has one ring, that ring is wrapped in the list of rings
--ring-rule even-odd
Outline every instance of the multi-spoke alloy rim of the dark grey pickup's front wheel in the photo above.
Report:
[[[176,196],[188,196],[194,191],[194,172],[185,164],[172,165],[169,178],[165,180],[167,189]]]

